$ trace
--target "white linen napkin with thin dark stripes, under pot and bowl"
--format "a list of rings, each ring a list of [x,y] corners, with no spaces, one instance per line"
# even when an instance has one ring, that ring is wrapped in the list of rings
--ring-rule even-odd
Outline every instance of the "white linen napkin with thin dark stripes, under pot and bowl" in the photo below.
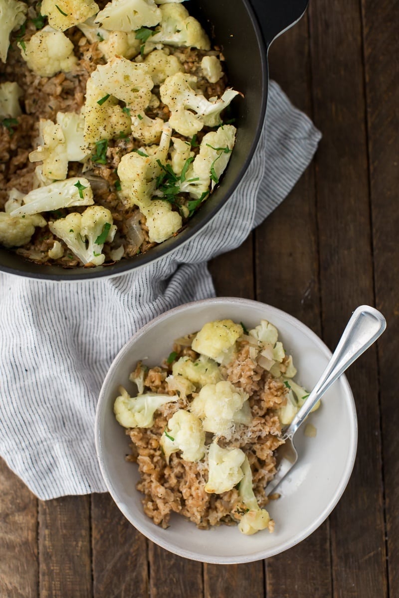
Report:
[[[258,150],[194,239],[138,272],[68,284],[0,273],[0,454],[41,499],[103,492],[96,402],[118,350],[146,322],[215,294],[206,261],[239,246],[306,169],[321,134],[273,81]]]

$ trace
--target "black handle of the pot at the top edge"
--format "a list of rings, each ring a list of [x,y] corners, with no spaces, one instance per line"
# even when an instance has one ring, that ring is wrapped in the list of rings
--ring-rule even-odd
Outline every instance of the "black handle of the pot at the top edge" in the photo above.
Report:
[[[273,39],[299,21],[308,3],[309,0],[251,0],[267,48]]]

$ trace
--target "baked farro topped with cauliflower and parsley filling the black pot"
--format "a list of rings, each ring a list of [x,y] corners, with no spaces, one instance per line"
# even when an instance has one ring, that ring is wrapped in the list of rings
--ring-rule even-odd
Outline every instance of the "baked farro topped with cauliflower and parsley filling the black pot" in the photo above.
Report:
[[[156,2],[0,0],[0,245],[115,263],[178,234],[218,184],[239,92],[184,5]]]

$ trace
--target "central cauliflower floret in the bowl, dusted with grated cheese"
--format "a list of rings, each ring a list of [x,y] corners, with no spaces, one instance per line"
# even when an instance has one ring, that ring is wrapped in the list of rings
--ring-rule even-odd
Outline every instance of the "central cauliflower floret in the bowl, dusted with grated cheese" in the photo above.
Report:
[[[191,402],[190,410],[203,422],[206,432],[229,437],[234,414],[242,409],[248,395],[228,380],[206,384]]]

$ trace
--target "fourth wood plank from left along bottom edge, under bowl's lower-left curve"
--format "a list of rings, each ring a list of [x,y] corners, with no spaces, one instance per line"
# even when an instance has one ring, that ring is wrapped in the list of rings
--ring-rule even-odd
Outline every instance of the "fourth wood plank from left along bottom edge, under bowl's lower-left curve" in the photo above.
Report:
[[[182,559],[157,544],[148,542],[151,598],[202,598],[202,563]]]

